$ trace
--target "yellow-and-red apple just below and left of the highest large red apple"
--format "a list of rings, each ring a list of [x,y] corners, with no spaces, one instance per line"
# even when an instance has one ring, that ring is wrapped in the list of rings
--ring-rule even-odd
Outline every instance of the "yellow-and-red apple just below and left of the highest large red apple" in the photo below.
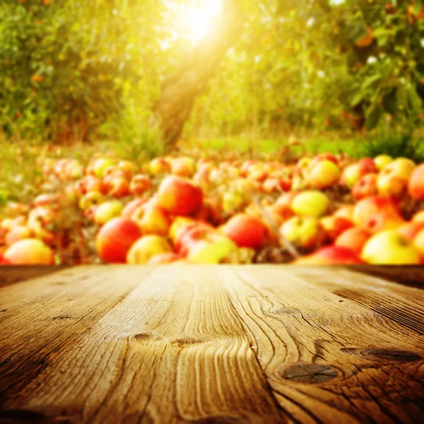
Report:
[[[170,230],[170,217],[152,199],[139,206],[131,215],[131,220],[139,225],[143,235],[167,235]]]

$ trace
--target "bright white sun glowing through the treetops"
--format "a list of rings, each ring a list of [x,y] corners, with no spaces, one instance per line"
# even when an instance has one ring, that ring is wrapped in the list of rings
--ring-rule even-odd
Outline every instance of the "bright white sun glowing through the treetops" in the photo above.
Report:
[[[178,13],[179,35],[197,44],[211,32],[213,18],[220,10],[220,0],[197,0],[182,6]]]

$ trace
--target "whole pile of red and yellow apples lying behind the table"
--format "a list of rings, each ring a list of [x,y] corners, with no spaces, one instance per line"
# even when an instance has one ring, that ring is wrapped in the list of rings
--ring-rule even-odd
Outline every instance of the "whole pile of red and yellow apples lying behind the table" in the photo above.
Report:
[[[0,264],[61,263],[58,249],[89,244],[75,225],[108,264],[248,264],[265,249],[292,264],[424,264],[424,164],[407,158],[47,159],[42,172],[60,189],[6,206]]]

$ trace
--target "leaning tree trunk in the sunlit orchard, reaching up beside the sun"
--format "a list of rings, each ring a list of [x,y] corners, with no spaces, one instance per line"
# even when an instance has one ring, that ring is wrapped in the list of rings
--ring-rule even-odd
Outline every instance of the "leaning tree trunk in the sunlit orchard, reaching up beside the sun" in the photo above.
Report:
[[[220,60],[242,33],[243,14],[236,2],[223,1],[213,33],[199,42],[177,71],[163,82],[154,112],[167,148],[174,147],[179,140],[196,97],[204,91]]]

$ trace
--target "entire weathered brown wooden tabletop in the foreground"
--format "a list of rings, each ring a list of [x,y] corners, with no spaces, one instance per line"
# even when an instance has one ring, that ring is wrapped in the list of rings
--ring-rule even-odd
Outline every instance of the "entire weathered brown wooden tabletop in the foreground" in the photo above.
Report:
[[[424,268],[2,267],[0,423],[424,423],[420,285]]]

